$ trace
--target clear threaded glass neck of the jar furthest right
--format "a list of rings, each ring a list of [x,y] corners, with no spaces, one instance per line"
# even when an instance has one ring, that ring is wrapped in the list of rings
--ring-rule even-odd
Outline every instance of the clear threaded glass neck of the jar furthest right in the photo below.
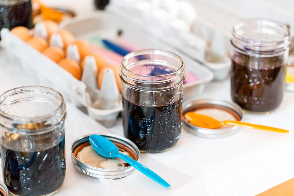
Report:
[[[252,56],[277,56],[291,44],[288,26],[271,19],[244,19],[233,26],[232,45]]]

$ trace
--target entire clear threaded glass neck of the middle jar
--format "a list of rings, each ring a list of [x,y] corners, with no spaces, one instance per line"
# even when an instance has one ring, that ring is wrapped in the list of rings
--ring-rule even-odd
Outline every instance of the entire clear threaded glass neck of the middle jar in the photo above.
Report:
[[[123,58],[120,78],[131,88],[165,91],[184,81],[185,65],[175,53],[157,49],[140,50]]]

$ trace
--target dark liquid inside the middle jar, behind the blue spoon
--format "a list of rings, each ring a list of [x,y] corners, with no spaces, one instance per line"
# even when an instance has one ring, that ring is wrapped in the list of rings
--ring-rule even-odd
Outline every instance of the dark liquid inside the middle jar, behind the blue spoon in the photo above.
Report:
[[[124,136],[144,152],[174,146],[180,137],[182,98],[164,106],[136,105],[123,98]]]

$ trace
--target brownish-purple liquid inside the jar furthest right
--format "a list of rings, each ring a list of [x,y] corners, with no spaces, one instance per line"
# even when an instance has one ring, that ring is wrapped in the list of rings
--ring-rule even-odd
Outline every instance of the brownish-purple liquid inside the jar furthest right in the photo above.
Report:
[[[234,53],[231,97],[241,108],[253,112],[278,108],[283,100],[284,83],[283,55],[258,58]]]

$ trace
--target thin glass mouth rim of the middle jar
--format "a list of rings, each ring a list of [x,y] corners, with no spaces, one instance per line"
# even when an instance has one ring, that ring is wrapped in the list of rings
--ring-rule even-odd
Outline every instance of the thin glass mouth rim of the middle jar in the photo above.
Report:
[[[141,74],[138,74],[138,73],[135,73],[133,71],[130,71],[126,66],[125,66],[125,61],[128,59],[128,58],[131,58],[131,57],[134,57],[136,56],[137,53],[150,53],[150,52],[156,52],[156,53],[166,53],[166,54],[169,54],[170,56],[174,56],[176,57],[180,62],[181,62],[181,66],[176,70],[176,71],[173,71],[171,73],[168,73],[168,74],[164,74],[164,75],[159,75],[159,76],[147,76],[147,75],[141,75]],[[121,70],[124,68],[126,71],[128,72],[131,72],[132,74],[136,75],[136,76],[143,76],[143,77],[146,77],[146,78],[156,78],[156,77],[163,77],[163,76],[170,76],[172,74],[175,74],[177,72],[181,72],[181,69],[183,69],[183,66],[184,66],[184,61],[183,59],[178,56],[176,53],[173,53],[171,51],[167,51],[167,50],[162,50],[162,49],[143,49],[143,50],[137,50],[137,51],[133,51],[131,53],[128,53],[126,56],[123,57],[122,61],[121,61]],[[121,72],[123,73],[123,72]],[[164,80],[161,80],[161,82],[164,81]],[[156,81],[158,82],[158,81]]]

